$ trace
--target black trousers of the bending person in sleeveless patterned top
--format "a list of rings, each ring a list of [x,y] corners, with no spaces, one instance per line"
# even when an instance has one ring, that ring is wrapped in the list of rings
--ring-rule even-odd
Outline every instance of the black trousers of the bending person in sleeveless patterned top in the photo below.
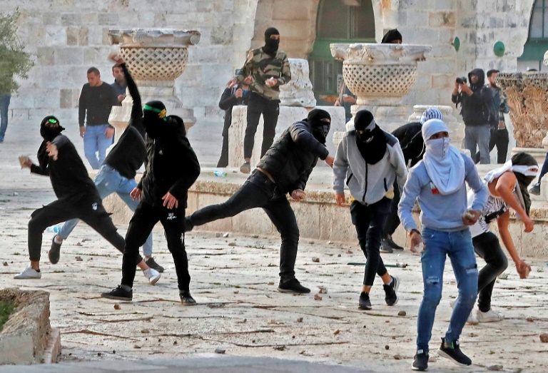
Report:
[[[491,310],[494,282],[497,276],[508,267],[508,259],[500,247],[499,239],[491,232],[473,237],[472,244],[477,255],[480,255],[487,263],[480,270],[480,276],[477,279],[477,307],[480,311],[487,312]]]

